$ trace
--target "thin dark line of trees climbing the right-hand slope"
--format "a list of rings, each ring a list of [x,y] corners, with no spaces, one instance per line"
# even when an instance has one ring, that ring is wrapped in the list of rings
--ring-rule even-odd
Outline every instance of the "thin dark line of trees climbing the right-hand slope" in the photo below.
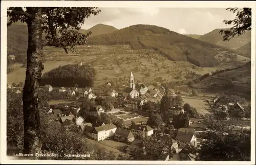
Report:
[[[187,85],[188,86],[192,86],[193,84],[196,84],[196,83],[204,80],[207,77],[218,75],[218,74],[221,74],[221,73],[224,73],[224,72],[228,72],[228,71],[231,71],[231,70],[234,70],[234,69],[239,69],[239,68],[242,68],[242,67],[251,67],[251,61],[249,61],[249,62],[247,62],[247,63],[245,63],[243,65],[237,66],[237,67],[231,67],[231,68],[226,68],[226,69],[222,69],[222,70],[218,70],[217,69],[215,72],[212,72],[211,74],[207,73],[207,74],[204,74],[203,76],[198,77],[198,78],[196,78],[194,80],[188,81]]]

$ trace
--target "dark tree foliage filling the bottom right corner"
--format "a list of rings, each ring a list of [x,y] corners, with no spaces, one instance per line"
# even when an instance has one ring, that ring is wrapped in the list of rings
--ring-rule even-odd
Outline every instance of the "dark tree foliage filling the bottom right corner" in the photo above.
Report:
[[[208,140],[201,143],[199,159],[202,161],[250,161],[251,136],[233,132],[225,124],[206,121]]]

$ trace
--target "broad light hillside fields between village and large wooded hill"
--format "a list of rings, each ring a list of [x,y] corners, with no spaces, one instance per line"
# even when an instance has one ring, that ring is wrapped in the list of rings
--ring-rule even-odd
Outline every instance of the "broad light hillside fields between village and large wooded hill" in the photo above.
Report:
[[[96,69],[95,85],[106,81],[126,84],[131,72],[136,82],[169,82],[193,78],[194,74],[205,74],[230,67],[233,64],[221,64],[214,67],[198,67],[186,61],[170,61],[166,57],[149,49],[132,49],[127,45],[113,46],[77,46],[76,52],[65,53],[62,49],[44,49],[46,61],[43,73],[58,67],[81,61],[91,64]],[[24,82],[26,68],[14,64],[13,72],[7,75],[7,83]],[[194,73],[194,74],[193,74]]]

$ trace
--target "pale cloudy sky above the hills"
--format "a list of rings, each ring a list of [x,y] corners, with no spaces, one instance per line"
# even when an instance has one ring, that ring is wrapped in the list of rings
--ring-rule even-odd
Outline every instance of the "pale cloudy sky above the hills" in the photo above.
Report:
[[[122,29],[136,24],[164,27],[181,34],[205,34],[214,29],[230,28],[224,19],[234,19],[226,8],[99,8],[101,13],[91,16],[82,29],[98,23]]]

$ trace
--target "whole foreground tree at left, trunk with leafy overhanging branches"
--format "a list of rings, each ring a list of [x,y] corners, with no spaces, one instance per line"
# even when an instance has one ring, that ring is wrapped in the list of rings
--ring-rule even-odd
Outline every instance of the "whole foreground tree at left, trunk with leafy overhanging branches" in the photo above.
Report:
[[[84,20],[97,15],[97,8],[10,7],[7,16],[10,26],[21,21],[28,26],[27,70],[23,90],[24,153],[40,153],[40,115],[38,109],[39,83],[42,70],[42,48],[55,46],[67,53],[75,45],[87,43],[89,34],[78,33]],[[46,34],[42,38],[42,33]]]

